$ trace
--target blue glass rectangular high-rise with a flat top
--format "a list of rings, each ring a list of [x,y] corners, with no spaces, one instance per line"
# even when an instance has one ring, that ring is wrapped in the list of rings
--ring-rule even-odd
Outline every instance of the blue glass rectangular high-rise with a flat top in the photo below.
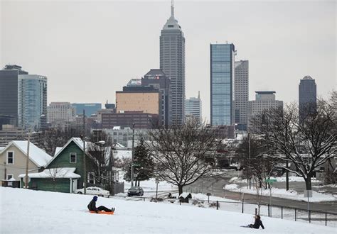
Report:
[[[233,44],[210,44],[210,125],[234,124]]]

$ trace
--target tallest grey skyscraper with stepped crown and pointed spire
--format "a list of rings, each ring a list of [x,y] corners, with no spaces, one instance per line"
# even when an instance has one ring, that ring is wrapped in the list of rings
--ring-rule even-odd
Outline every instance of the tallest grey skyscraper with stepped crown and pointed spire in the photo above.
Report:
[[[171,17],[166,21],[160,36],[160,69],[171,79],[170,125],[184,121],[185,105],[185,38],[174,18],[173,0]]]

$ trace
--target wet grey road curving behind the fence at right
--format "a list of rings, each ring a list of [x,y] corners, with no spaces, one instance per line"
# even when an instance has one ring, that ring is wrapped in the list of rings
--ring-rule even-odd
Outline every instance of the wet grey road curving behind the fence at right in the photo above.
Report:
[[[192,192],[210,192],[213,196],[225,196],[226,199],[241,200],[242,194],[239,192],[224,190],[225,184],[231,184],[229,180],[232,177],[237,177],[237,172],[228,171],[221,174],[218,177],[208,177],[200,179],[198,182],[191,184],[190,186],[184,187],[184,191]],[[239,184],[239,183],[237,183]],[[239,184],[239,186],[244,186],[245,184]],[[274,183],[274,187],[284,188],[285,182]],[[304,190],[304,182],[290,182],[289,188],[294,190],[302,191]],[[315,189],[315,188],[313,188]],[[319,190],[319,189],[316,189]],[[257,196],[255,194],[245,194],[245,201],[256,203]],[[269,196],[262,196],[262,203],[269,204]],[[294,208],[306,209],[307,203],[305,201],[296,201],[290,199],[282,199],[277,197],[272,197],[272,204],[276,206],[289,206]],[[326,201],[320,203],[310,203],[310,209],[313,211],[323,211],[323,212],[333,212],[337,213],[337,201]]]

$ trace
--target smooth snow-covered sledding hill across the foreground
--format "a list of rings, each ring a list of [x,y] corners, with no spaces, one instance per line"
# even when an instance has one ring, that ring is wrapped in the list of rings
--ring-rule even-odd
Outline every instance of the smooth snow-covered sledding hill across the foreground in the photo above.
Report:
[[[336,228],[262,217],[265,230],[241,228],[252,214],[99,198],[113,216],[89,213],[91,196],[0,187],[0,233],[336,233]]]

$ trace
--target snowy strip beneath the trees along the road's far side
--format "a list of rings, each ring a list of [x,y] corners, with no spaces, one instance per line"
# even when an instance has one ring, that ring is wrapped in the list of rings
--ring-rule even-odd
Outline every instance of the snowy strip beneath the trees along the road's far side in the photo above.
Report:
[[[254,187],[252,189],[247,189],[246,186],[240,187],[237,184],[227,184],[223,188],[229,191],[239,191],[245,194],[257,194],[257,191]],[[262,189],[262,195],[269,196],[270,191],[269,189]],[[299,194],[294,190],[287,191],[286,189],[277,189],[272,188],[272,196],[284,198],[284,199],[291,199],[291,200],[299,200],[299,201],[307,201],[308,199],[304,197],[304,194]],[[337,197],[332,194],[321,194],[316,191],[312,191],[312,197],[310,201],[312,202],[321,202],[321,201],[336,201]]]

